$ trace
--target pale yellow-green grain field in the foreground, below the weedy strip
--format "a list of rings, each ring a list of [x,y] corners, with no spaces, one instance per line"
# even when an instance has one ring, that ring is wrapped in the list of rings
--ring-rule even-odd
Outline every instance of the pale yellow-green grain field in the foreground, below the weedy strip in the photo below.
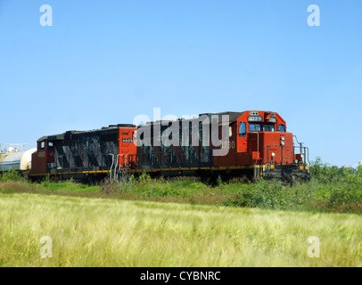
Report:
[[[0,266],[362,266],[362,216],[0,192]],[[53,241],[42,258],[43,236]],[[319,239],[320,256],[309,257]]]

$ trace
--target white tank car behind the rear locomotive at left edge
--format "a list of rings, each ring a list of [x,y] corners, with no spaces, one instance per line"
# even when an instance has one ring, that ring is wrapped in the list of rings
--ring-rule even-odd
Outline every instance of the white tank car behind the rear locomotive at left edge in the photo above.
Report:
[[[11,147],[0,152],[0,172],[12,170],[26,171],[31,168],[31,155],[37,149],[14,151]]]

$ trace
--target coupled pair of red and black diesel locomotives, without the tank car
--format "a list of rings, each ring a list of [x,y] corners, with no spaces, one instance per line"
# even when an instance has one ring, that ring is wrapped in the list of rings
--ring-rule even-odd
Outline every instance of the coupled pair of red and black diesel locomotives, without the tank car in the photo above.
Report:
[[[310,178],[308,157],[277,112],[226,111],[45,135],[31,152],[27,175],[33,181],[119,181],[146,173],[293,182]]]

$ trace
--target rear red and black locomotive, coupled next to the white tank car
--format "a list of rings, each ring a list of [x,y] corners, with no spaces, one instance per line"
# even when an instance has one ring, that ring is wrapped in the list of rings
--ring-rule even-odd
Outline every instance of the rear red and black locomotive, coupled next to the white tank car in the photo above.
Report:
[[[37,140],[29,176],[101,180],[120,169],[134,168],[136,126],[119,124],[91,131],[67,131]]]

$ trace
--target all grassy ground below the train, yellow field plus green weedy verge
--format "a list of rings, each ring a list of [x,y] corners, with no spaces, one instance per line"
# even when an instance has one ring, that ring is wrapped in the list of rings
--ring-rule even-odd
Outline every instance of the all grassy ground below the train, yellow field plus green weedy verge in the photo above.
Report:
[[[362,266],[362,166],[317,161],[311,173],[292,187],[148,175],[28,183],[4,173],[0,266]],[[43,237],[52,257],[42,257]]]

